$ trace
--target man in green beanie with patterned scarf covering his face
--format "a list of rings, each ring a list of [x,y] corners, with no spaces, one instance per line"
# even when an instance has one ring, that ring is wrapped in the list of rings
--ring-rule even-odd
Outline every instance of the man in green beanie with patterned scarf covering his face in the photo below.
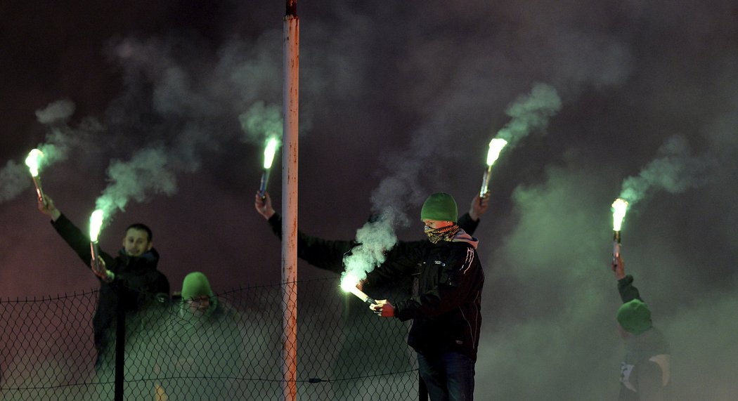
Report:
[[[428,241],[388,258],[361,287],[413,277],[410,299],[378,300],[371,309],[386,318],[413,319],[407,344],[417,353],[432,401],[472,400],[484,285],[479,241],[459,228],[456,202],[446,192],[425,200],[421,221]]]

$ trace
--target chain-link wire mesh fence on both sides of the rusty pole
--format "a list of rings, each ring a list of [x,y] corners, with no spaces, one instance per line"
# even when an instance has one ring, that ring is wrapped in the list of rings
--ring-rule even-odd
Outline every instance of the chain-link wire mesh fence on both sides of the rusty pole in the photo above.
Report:
[[[376,317],[338,279],[298,282],[297,296],[299,400],[418,400],[407,324]],[[97,360],[96,300],[97,291],[0,301],[1,400],[114,399],[116,344]],[[282,397],[282,286],[214,300],[207,314],[174,299],[126,316],[125,400]]]

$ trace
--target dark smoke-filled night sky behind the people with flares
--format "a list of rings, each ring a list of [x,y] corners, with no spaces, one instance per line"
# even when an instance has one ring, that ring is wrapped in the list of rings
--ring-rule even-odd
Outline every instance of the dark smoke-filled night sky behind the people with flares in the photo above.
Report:
[[[392,204],[411,222],[398,236],[419,238],[423,198],[446,191],[466,210],[508,105],[551,86],[560,111],[497,161],[475,233],[487,279],[477,395],[617,392],[610,203],[629,183],[644,196],[623,254],[672,341],[678,394],[726,399],[738,357],[738,6],[508,3],[298,4],[300,227],[351,239]],[[279,242],[253,208],[263,133],[239,116],[281,107],[283,13],[278,1],[4,1],[0,296],[97,287],[36,209],[23,161],[44,144],[55,146],[44,189],[81,227],[106,188],[128,200],[103,249],[142,221],[174,288],[194,270],[216,291],[278,282]],[[134,166],[133,180],[116,175]]]

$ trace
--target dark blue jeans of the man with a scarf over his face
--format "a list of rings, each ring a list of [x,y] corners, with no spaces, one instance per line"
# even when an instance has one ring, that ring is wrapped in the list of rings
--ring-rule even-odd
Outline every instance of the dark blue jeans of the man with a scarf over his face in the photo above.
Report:
[[[431,401],[474,400],[474,361],[466,355],[418,354],[418,370]]]

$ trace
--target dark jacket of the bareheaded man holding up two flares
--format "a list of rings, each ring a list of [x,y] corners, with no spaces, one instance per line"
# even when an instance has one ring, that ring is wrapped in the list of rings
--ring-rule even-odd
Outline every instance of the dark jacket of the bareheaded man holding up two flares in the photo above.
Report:
[[[72,247],[87,268],[90,268],[92,255],[90,254],[89,237],[64,215],[52,222],[52,226]],[[145,304],[154,301],[157,296],[165,298],[169,296],[169,281],[164,274],[156,270],[159,253],[154,248],[140,257],[129,257],[123,249],[117,257],[100,251],[100,257],[105,260],[106,268],[115,273],[115,279],[109,283],[100,280],[97,308],[92,318],[95,348],[98,354],[106,349],[108,330],[114,324],[116,309],[120,301],[123,301],[125,312],[132,313],[142,310]]]

